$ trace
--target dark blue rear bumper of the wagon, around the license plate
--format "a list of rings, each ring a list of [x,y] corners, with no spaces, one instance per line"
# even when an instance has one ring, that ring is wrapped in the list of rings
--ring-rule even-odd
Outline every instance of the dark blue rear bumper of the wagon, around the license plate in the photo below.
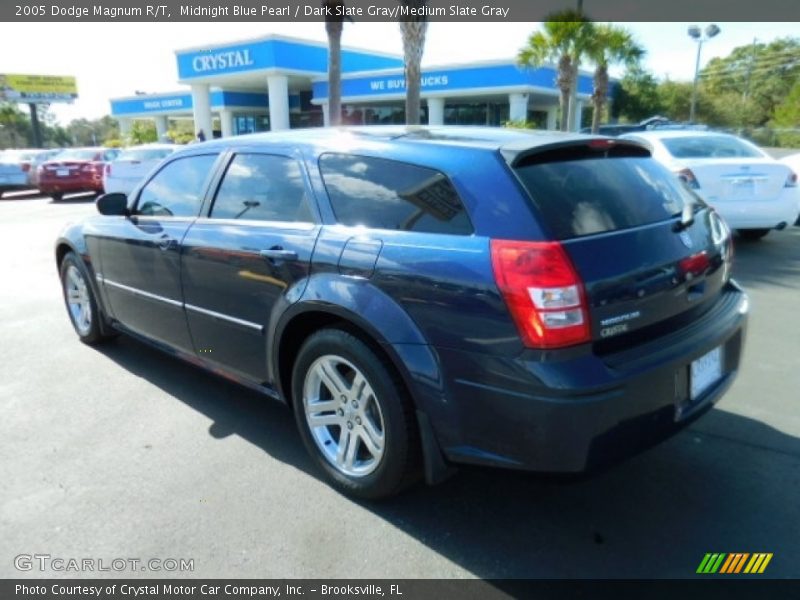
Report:
[[[440,349],[449,401],[426,412],[445,457],[578,473],[669,437],[716,403],[738,372],[747,296],[729,284],[718,304],[680,331],[602,357]],[[717,347],[722,375],[690,402],[690,365]]]

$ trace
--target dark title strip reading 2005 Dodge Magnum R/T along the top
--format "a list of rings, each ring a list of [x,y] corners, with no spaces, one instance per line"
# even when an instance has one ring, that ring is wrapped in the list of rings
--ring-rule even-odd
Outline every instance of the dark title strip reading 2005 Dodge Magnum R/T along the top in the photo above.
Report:
[[[595,21],[800,21],[800,2],[795,0],[583,0],[581,4]],[[0,21],[314,22],[346,17],[354,22],[385,22],[424,16],[434,22],[539,22],[577,5],[578,0],[429,0],[420,9],[410,9],[397,0],[344,0],[341,8],[326,10],[319,0],[152,0],[150,4],[3,0]]]

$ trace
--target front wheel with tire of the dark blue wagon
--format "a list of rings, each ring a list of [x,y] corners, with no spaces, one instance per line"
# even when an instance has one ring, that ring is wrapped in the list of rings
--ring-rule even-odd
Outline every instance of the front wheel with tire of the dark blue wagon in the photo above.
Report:
[[[89,283],[89,274],[74,252],[64,256],[60,274],[67,314],[80,340],[85,344],[94,345],[116,337],[103,333],[100,324],[102,315]]]

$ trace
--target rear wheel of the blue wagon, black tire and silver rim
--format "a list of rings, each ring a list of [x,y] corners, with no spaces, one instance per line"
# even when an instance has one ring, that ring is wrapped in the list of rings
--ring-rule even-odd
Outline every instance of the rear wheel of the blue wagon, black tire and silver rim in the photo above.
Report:
[[[419,473],[413,406],[395,371],[339,329],[309,337],[292,375],[295,419],[306,449],[340,491],[393,496]]]

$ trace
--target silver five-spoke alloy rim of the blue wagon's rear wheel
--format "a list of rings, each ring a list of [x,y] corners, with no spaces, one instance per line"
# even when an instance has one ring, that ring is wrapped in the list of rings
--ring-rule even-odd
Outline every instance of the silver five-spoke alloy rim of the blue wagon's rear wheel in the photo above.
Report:
[[[383,414],[364,374],[333,354],[306,372],[303,407],[311,437],[325,459],[349,477],[364,477],[381,462],[386,446]]]

